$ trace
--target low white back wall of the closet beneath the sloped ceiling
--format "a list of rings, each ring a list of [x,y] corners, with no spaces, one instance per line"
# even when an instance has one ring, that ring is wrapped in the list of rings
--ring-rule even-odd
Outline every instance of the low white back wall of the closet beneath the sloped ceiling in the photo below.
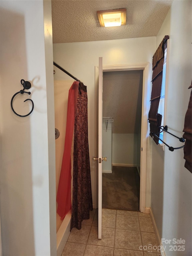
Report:
[[[113,164],[137,164],[137,134],[113,133]]]

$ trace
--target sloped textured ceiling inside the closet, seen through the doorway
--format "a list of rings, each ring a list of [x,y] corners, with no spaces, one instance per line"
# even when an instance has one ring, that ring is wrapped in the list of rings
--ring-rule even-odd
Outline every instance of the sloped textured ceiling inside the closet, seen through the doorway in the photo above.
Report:
[[[113,133],[141,128],[143,70],[103,73],[103,117],[112,117]]]

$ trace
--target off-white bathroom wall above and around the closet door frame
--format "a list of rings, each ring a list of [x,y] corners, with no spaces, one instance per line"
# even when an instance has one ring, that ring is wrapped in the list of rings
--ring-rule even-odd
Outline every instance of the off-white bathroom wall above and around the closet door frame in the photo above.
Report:
[[[88,139],[91,165],[91,186],[93,203],[95,204],[95,66],[99,57],[103,57],[103,65],[123,65],[150,63],[155,52],[155,37],[131,38],[109,41],[53,44],[53,59],[75,77],[84,82],[88,94]],[[54,68],[55,80],[68,80],[62,71]],[[152,73],[150,74],[152,77]],[[150,91],[150,90],[149,90]],[[150,93],[149,93],[150,94]],[[151,94],[150,94],[151,95]],[[149,95],[149,99],[150,99]],[[150,107],[150,106],[149,106]],[[148,145],[150,145],[148,143]],[[146,206],[150,207],[151,151],[147,160]]]

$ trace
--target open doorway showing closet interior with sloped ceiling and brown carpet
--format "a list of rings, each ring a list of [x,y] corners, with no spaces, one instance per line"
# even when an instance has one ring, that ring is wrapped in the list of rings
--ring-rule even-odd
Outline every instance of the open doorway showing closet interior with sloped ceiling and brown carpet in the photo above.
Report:
[[[140,209],[143,70],[103,73],[102,208]]]

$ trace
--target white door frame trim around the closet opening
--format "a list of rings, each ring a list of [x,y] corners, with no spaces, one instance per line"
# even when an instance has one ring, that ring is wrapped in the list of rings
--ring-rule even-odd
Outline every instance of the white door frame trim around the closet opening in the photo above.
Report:
[[[140,212],[146,208],[146,158],[147,158],[147,125],[148,125],[148,94],[149,63],[103,66],[105,71],[143,70],[142,120],[141,120],[141,177],[140,177]],[[98,78],[99,67],[95,67],[95,156],[98,153]],[[98,207],[98,165],[95,164],[95,208]]]

